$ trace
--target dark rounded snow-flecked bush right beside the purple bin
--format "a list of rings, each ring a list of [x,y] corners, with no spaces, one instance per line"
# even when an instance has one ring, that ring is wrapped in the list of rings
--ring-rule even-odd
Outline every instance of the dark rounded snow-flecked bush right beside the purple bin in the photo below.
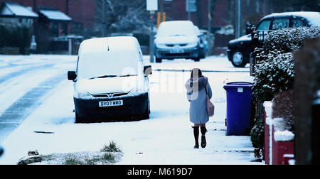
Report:
[[[261,102],[271,101],[274,94],[292,89],[294,74],[292,53],[272,51],[255,67],[255,97]]]

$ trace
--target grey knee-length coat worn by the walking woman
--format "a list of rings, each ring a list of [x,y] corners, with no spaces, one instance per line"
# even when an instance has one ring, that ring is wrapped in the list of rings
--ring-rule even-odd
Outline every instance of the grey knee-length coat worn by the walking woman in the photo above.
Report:
[[[194,124],[206,124],[209,121],[207,111],[207,94],[212,98],[212,90],[207,77],[200,77],[200,82],[196,83],[197,87],[191,87],[191,80],[186,82],[187,99],[190,102],[190,121]]]

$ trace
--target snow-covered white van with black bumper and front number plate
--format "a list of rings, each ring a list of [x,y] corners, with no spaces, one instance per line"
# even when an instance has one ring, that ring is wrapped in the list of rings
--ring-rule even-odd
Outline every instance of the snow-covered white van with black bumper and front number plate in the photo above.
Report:
[[[68,72],[68,80],[75,82],[76,122],[149,119],[151,73],[137,38],[83,41],[76,71]]]

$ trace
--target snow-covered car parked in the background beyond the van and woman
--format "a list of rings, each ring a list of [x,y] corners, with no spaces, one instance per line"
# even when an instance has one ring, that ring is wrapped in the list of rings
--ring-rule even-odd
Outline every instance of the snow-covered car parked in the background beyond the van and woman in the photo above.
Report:
[[[200,39],[191,21],[161,23],[154,39],[156,63],[175,58],[200,61]]]

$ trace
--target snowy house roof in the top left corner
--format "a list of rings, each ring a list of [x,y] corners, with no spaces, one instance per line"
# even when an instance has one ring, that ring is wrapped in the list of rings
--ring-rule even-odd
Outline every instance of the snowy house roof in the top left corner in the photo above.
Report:
[[[38,14],[17,3],[4,2],[0,6],[1,17],[38,18]]]

